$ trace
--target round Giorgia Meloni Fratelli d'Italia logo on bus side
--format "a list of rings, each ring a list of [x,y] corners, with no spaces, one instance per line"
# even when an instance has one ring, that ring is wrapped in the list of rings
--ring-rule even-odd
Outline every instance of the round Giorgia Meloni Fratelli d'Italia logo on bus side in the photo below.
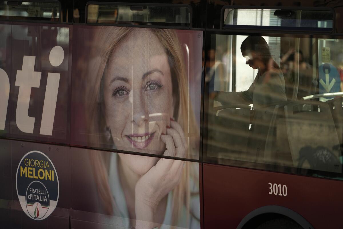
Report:
[[[42,220],[55,210],[58,177],[54,164],[44,153],[26,153],[19,162],[15,180],[19,202],[27,216]]]

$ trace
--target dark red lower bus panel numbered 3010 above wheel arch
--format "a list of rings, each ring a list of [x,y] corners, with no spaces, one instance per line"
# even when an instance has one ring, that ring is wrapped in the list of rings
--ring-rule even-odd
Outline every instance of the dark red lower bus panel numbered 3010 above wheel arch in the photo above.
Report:
[[[276,184],[276,195],[269,183]],[[251,211],[268,205],[291,209],[314,228],[342,226],[341,181],[204,164],[203,187],[205,228],[236,228]]]

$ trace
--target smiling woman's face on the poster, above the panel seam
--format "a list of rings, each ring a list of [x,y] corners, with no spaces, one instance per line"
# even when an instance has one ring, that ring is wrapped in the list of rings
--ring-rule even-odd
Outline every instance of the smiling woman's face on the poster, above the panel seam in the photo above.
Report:
[[[163,154],[173,117],[171,73],[163,45],[149,30],[119,44],[104,74],[105,118],[119,150]]]

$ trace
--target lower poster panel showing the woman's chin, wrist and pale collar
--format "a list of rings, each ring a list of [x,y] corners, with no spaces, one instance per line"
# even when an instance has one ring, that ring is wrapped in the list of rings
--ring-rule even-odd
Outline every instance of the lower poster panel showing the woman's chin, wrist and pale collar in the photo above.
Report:
[[[199,163],[71,148],[71,227],[200,228]]]

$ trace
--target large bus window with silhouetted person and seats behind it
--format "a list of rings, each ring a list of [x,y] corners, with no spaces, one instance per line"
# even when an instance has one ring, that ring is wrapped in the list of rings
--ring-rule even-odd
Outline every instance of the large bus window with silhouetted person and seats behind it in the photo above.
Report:
[[[343,41],[211,39],[216,64],[206,75],[208,159],[246,167],[260,166],[257,162],[317,176],[341,173]],[[223,71],[220,65],[230,67]]]

